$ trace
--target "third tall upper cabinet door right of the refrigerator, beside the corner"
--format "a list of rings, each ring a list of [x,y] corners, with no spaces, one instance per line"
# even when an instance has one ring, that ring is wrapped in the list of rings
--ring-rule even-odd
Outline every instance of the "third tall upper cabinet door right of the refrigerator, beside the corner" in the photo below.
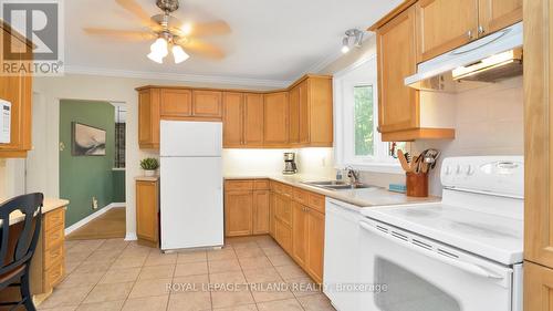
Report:
[[[288,144],[289,133],[288,93],[264,95],[264,144],[282,146]]]

